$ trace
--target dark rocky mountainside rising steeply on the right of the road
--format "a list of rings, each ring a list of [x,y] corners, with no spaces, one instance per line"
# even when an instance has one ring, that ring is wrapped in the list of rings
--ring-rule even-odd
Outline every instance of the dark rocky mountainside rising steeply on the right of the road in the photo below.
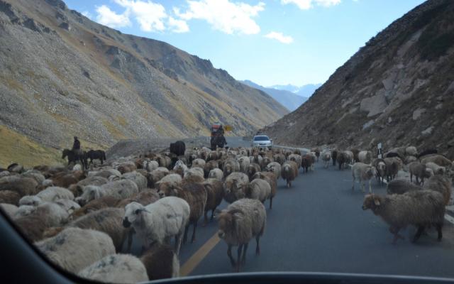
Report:
[[[454,158],[454,1],[429,0],[371,38],[264,131],[275,143],[437,148]]]

